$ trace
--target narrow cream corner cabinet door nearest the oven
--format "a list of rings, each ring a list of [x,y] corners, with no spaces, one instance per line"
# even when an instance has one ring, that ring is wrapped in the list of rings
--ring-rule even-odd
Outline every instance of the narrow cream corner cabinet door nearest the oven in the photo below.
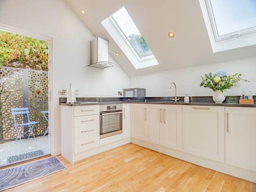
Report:
[[[132,137],[147,140],[146,134],[147,107],[145,105],[132,105],[131,129]]]

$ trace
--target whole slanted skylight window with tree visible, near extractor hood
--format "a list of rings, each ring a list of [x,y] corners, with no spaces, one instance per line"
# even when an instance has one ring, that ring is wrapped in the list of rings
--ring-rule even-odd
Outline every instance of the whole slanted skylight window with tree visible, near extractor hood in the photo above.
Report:
[[[101,23],[136,69],[158,65],[125,7]]]

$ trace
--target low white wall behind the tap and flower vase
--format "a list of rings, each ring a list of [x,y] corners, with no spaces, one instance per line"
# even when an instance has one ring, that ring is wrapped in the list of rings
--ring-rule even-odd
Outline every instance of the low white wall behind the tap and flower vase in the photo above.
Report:
[[[201,76],[206,73],[216,73],[221,70],[227,71],[228,74],[236,72],[241,73],[242,78],[250,81],[249,83],[242,82],[240,86],[228,90],[229,95],[240,95],[242,91],[246,93],[252,91],[252,93],[256,95],[256,58],[131,77],[131,86],[146,88],[148,97],[173,95],[174,90],[169,89],[171,82],[177,83],[179,95],[186,93],[191,95],[212,95],[210,89],[199,86]]]

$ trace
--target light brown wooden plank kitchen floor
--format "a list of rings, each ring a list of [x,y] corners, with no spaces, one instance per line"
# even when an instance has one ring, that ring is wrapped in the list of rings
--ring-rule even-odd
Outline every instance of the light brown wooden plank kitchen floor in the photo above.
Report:
[[[75,165],[59,158],[67,170],[7,191],[256,191],[256,183],[133,144]]]

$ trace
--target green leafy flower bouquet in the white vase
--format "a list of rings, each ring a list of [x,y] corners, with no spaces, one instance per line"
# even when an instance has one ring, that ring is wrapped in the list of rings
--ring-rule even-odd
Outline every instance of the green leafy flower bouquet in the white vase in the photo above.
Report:
[[[231,87],[237,86],[240,81],[248,82],[245,79],[241,78],[242,74],[235,73],[234,75],[227,75],[226,72],[219,72],[217,74],[205,74],[201,76],[202,82],[200,86],[205,88],[210,88],[213,91],[231,89]]]

